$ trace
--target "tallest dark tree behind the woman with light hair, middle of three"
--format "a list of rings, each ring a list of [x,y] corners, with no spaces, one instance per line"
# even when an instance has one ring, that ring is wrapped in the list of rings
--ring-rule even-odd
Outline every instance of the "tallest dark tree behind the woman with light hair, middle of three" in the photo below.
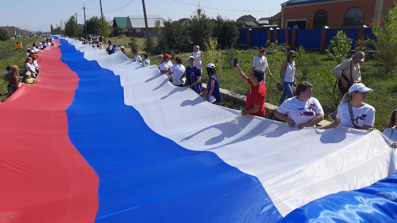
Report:
[[[190,41],[193,45],[199,45],[205,50],[205,45],[212,38],[212,19],[210,19],[202,8],[197,8],[195,13],[187,19]]]

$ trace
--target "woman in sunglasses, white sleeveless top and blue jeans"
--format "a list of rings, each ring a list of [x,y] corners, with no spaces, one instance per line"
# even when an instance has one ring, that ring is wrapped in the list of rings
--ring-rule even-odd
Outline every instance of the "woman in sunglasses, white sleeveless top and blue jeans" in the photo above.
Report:
[[[284,88],[283,94],[278,102],[278,106],[283,104],[285,96],[292,98],[294,96],[292,92],[293,85],[295,84],[295,58],[297,53],[290,50],[287,54],[287,60],[284,61],[280,70],[280,84]]]

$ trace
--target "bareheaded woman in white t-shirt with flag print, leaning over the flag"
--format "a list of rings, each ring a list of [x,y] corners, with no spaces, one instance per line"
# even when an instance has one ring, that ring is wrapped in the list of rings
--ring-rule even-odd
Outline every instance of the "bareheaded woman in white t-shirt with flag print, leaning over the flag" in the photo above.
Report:
[[[300,129],[303,127],[314,128],[324,119],[322,106],[316,98],[312,97],[312,85],[306,81],[297,86],[297,96],[285,100],[274,111],[274,115],[286,121],[289,126],[297,125]]]

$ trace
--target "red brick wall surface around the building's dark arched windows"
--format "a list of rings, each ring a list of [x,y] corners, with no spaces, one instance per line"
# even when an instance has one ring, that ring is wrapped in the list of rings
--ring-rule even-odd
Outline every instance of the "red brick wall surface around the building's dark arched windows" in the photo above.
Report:
[[[384,0],[382,17],[394,0]],[[307,29],[313,28],[313,17],[317,10],[323,9],[328,13],[328,27],[331,29],[357,28],[360,25],[343,25],[345,13],[352,7],[359,7],[364,12],[364,25],[370,27],[374,18],[376,0],[334,0],[330,2],[314,2],[302,5],[282,6],[284,10],[283,28],[287,27],[287,20],[307,19]]]

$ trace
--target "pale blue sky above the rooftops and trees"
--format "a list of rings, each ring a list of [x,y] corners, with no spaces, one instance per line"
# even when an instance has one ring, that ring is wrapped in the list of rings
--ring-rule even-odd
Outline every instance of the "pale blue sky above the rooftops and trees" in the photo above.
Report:
[[[187,18],[191,15],[200,2],[200,6],[205,10],[209,17],[216,17],[219,13],[223,17],[237,19],[241,15],[252,15],[256,19],[270,17],[281,11],[281,4],[286,0],[145,0],[146,15],[160,15],[164,19],[170,17],[172,20]],[[15,8],[13,1],[0,0],[3,2],[3,8]],[[50,6],[42,7],[35,11],[34,15],[29,13],[17,13],[14,10],[5,10],[2,12],[0,26],[15,26],[21,29],[32,31],[50,31],[51,24],[56,27],[60,24],[61,19],[68,19],[72,14],[77,12],[77,21],[84,24],[83,4],[86,19],[93,15],[100,16],[100,0],[67,0],[67,1],[50,1]],[[102,11],[104,16],[113,20],[113,17],[127,17],[128,15],[143,15],[142,0],[102,0]],[[184,4],[181,2],[193,4]],[[31,4],[30,0],[21,0],[18,5]],[[129,4],[129,5],[127,5]],[[125,6],[127,5],[127,6]],[[124,8],[121,8],[125,6]],[[218,9],[210,9],[210,8]],[[121,8],[120,10],[117,10]],[[226,9],[226,10],[220,10]],[[107,11],[105,11],[107,10]],[[240,10],[230,11],[230,10]],[[261,11],[261,12],[241,12],[241,11]],[[267,11],[276,10],[276,11]]]

